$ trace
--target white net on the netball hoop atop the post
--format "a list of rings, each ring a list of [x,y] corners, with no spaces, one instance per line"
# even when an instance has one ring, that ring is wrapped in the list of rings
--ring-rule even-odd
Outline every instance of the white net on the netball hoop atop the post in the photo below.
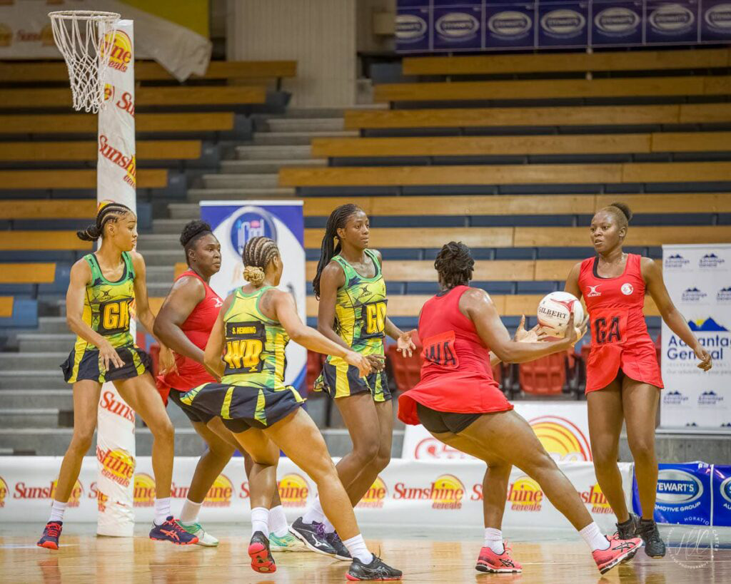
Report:
[[[53,40],[69,69],[75,110],[105,107],[105,74],[120,16],[116,12],[69,10],[48,14]]]

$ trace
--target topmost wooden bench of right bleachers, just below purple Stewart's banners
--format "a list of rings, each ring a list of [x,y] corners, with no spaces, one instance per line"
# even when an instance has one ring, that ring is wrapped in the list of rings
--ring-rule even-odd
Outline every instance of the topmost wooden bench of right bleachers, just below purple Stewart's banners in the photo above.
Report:
[[[695,49],[406,57],[404,75],[474,75],[584,71],[713,69],[731,66],[731,50]]]

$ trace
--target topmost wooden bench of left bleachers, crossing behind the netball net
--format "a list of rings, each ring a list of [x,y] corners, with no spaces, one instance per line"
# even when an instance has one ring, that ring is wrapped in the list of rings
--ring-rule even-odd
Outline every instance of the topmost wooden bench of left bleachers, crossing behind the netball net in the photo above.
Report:
[[[211,61],[205,74],[190,79],[280,79],[295,77],[297,61]],[[156,61],[135,61],[135,81],[169,81],[175,77]],[[2,82],[68,82],[69,72],[62,62],[0,63]]]

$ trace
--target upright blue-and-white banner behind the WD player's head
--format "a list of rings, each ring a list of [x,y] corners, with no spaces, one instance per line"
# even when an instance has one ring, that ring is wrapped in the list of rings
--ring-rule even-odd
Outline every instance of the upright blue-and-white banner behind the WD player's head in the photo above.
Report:
[[[241,254],[252,237],[276,241],[284,263],[279,288],[292,294],[300,318],[306,322],[305,222],[302,201],[201,201],[200,217],[211,223],[221,242],[221,269],[211,277],[211,288],[226,298],[243,280]],[[287,345],[285,383],[301,389],[305,380],[307,350]]]

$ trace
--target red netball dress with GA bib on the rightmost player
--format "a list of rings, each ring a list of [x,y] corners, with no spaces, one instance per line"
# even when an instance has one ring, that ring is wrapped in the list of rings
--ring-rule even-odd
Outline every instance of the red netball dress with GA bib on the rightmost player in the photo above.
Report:
[[[642,258],[627,254],[624,274],[597,274],[599,258],[581,262],[579,288],[586,302],[591,352],[586,363],[586,393],[607,387],[621,369],[627,377],[662,388],[655,345],[647,331],[643,306]]]

